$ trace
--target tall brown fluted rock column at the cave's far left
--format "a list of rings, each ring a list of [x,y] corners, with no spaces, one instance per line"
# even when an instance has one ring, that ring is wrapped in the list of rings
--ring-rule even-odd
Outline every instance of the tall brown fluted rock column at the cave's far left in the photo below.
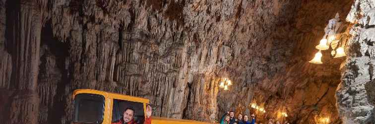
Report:
[[[7,124],[38,123],[40,37],[47,0],[7,1],[7,50],[12,56],[10,113]]]

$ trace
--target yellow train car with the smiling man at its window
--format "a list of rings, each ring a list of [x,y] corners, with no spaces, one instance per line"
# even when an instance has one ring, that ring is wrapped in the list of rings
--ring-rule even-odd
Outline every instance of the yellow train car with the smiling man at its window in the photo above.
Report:
[[[126,108],[132,108],[134,120],[143,124],[148,99],[91,89],[73,92],[72,124],[112,124],[123,117]],[[210,124],[190,120],[151,117],[151,124]]]

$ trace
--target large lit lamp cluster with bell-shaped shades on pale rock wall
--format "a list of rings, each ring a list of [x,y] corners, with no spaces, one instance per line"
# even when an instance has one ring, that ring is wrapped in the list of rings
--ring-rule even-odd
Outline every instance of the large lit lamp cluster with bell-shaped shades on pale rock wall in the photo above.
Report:
[[[321,64],[321,57],[323,56],[321,54],[321,51],[328,50],[329,48],[332,49],[331,55],[333,58],[340,58],[345,57],[345,51],[343,46],[345,46],[345,43],[343,40],[342,35],[345,33],[341,33],[341,30],[343,29],[343,24],[340,21],[340,16],[338,13],[336,13],[335,18],[328,21],[328,25],[324,28],[324,37],[320,40],[319,45],[315,46],[317,50],[319,50],[313,60],[309,61],[310,63],[316,63]],[[338,47],[339,46],[339,47]]]

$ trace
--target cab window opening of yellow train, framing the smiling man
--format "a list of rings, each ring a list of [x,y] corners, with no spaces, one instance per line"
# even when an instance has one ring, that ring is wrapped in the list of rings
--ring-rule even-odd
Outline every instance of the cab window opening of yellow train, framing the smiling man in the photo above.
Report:
[[[143,103],[131,102],[125,100],[113,100],[112,110],[112,123],[120,122],[123,120],[125,109],[131,108],[134,110],[134,122],[143,124],[144,122],[144,109]]]

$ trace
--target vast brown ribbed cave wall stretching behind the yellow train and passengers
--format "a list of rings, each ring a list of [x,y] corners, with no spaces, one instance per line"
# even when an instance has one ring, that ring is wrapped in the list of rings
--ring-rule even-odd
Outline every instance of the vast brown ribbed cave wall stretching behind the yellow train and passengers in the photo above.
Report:
[[[0,12],[10,12],[10,1],[0,1]],[[148,98],[153,116],[168,118],[214,122],[228,110],[250,114],[247,108],[257,100],[269,112],[258,114],[260,121],[277,118],[286,106],[292,123],[315,124],[322,114],[341,122],[334,93],[343,60],[308,61],[327,21],[336,12],[343,19],[352,0],[15,1],[34,5],[34,14],[24,15],[46,18],[35,29],[40,34],[32,34],[40,36],[40,50],[24,56],[39,63],[26,66],[37,71],[31,90],[37,95],[27,101],[39,100],[33,103],[39,114],[30,117],[37,122],[28,123],[69,124],[71,93],[78,88]],[[5,35],[13,30],[6,20],[18,18],[1,15]],[[16,41],[11,37],[0,37],[0,97],[8,102],[23,88],[11,84],[25,86],[11,79],[20,68],[5,44]],[[234,82],[229,91],[217,87],[221,77]],[[10,105],[3,103],[0,111]]]

